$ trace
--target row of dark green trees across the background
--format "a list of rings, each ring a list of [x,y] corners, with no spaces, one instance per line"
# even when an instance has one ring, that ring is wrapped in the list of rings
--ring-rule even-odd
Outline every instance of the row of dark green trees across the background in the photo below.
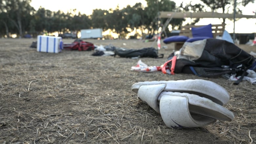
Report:
[[[227,10],[233,0],[201,0],[206,7],[213,11],[218,9]],[[126,8],[115,10],[93,10],[92,15],[81,14],[76,10],[67,13],[63,11],[50,11],[40,7],[34,10],[30,6],[31,0],[0,0],[0,37],[10,36],[16,33],[22,36],[25,33],[36,36],[42,32],[68,32],[80,31],[81,29],[102,28],[103,31],[111,29],[124,37],[128,30],[139,29],[144,32],[156,33],[166,19],[160,19],[160,11],[204,11],[201,4],[187,4],[176,7],[175,2],[170,0],[146,0],[147,6],[136,3]],[[241,0],[238,5],[247,5],[253,0]],[[239,9],[238,9],[239,12]],[[170,25],[181,26],[184,19],[172,19]],[[197,22],[198,20],[194,20]],[[166,28],[167,31],[167,28]],[[136,33],[138,34],[138,33]]]

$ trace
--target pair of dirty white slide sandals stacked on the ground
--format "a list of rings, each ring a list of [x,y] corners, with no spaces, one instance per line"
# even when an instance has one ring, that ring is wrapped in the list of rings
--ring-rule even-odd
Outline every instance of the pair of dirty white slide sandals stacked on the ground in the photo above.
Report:
[[[227,91],[211,81],[139,82],[132,86],[132,90],[160,113],[170,128],[201,127],[216,119],[231,121],[234,118],[232,112],[221,106],[229,100]]]

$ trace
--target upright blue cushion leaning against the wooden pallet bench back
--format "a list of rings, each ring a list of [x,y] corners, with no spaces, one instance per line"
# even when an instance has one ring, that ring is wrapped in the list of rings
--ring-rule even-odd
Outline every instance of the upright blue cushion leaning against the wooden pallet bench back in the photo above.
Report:
[[[206,25],[206,26],[202,26],[202,27],[198,27],[198,28],[191,28],[192,31],[192,36],[193,37],[199,37],[199,36],[206,36],[206,37],[210,37],[213,38],[212,35],[212,24]]]

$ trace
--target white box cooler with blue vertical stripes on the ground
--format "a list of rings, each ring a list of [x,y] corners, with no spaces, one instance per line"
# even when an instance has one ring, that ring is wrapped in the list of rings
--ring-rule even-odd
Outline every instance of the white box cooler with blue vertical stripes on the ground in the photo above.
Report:
[[[61,37],[55,36],[37,36],[37,51],[58,53],[63,49],[63,42]]]

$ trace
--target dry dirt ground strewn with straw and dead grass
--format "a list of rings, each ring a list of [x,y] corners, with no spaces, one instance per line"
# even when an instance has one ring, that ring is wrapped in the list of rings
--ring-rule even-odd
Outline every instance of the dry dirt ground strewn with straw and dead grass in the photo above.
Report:
[[[0,143],[255,143],[255,85],[234,85],[223,77],[130,71],[139,59],[92,56],[93,51],[37,52],[36,39],[0,39]],[[74,39],[64,39],[64,43]],[[141,40],[85,40],[95,45],[157,48]],[[141,58],[160,66],[173,44],[159,50],[164,58]],[[255,46],[239,45],[256,52]],[[170,129],[159,113],[137,98],[131,86],[141,81],[205,79],[230,94],[224,105],[233,121],[205,127]]]

